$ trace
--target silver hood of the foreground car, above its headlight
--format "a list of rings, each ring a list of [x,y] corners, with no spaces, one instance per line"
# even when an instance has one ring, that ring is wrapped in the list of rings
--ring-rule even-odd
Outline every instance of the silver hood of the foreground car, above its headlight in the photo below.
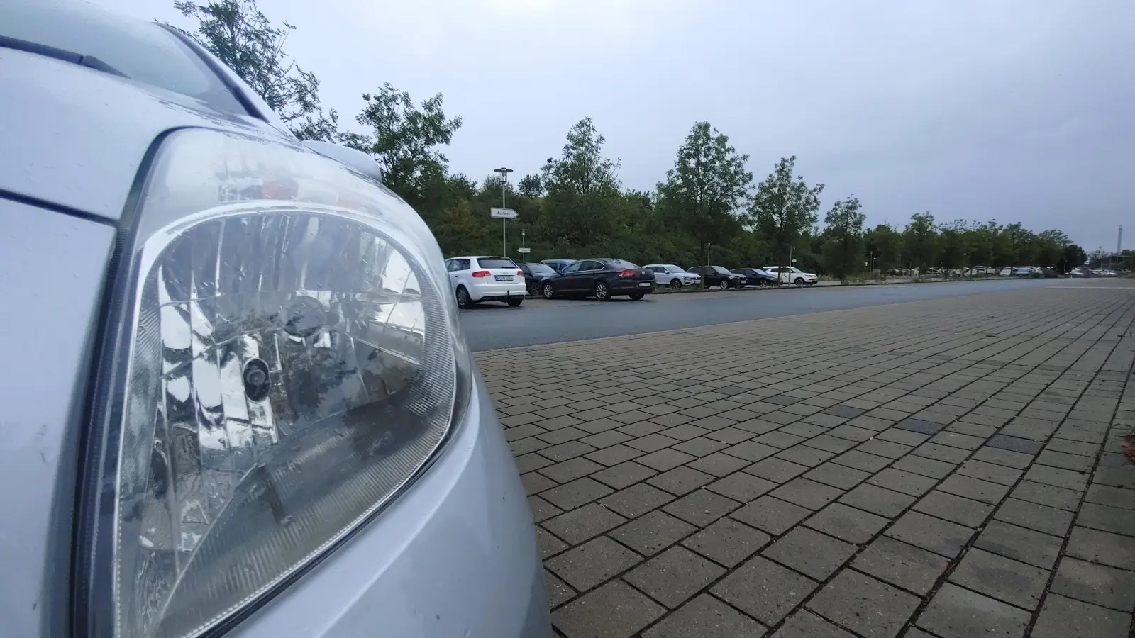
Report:
[[[0,49],[0,193],[117,220],[154,140],[183,127],[297,144],[267,123],[102,72]]]

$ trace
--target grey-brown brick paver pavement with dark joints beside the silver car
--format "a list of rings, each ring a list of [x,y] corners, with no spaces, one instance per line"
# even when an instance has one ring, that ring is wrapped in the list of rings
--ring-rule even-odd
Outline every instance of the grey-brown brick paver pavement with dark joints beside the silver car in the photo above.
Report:
[[[479,353],[556,631],[1127,637],[1133,284]]]

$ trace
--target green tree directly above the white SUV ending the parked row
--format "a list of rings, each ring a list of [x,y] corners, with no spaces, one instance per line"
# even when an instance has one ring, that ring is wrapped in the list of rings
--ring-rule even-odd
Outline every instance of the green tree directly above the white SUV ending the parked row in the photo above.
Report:
[[[789,249],[801,247],[801,240],[816,224],[823,184],[808,186],[793,176],[796,156],[781,158],[773,171],[757,185],[749,207],[749,221],[772,244],[781,266],[788,263]]]

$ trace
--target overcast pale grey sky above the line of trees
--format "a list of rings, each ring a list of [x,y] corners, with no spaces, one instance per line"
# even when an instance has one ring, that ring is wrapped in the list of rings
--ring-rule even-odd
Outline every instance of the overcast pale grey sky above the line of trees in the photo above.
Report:
[[[192,27],[173,0],[96,0]],[[869,225],[1022,221],[1135,246],[1130,0],[259,0],[347,121],[382,82],[445,94],[451,168],[558,156],[585,116],[653,190],[696,120],[764,178],[798,156]]]

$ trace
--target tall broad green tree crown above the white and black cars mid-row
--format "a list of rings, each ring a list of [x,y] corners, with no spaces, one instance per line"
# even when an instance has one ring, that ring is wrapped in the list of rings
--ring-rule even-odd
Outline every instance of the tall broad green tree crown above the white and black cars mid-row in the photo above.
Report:
[[[674,168],[658,183],[666,218],[700,244],[721,244],[737,235],[741,229],[738,215],[748,203],[753,184],[753,174],[745,169],[748,160],[708,121],[696,123],[678,148]]]

